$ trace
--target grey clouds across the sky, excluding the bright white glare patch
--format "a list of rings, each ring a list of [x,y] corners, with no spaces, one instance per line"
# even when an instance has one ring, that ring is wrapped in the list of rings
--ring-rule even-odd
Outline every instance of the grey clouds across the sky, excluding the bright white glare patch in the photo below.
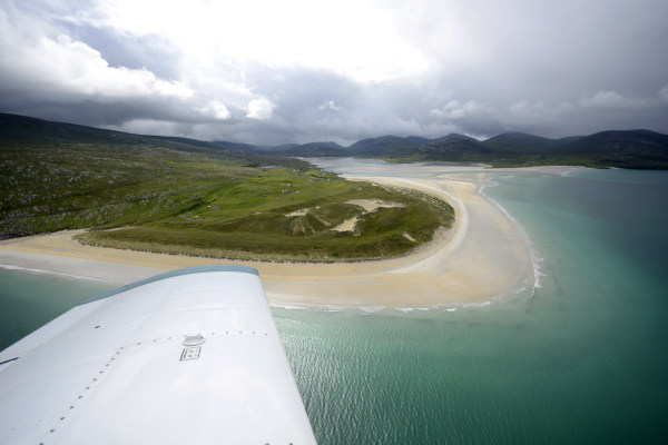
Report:
[[[90,2],[0,0],[0,110],[265,145],[385,134],[668,132],[668,3],[491,3],[387,2],[429,68],[370,81],[223,50],[193,63],[169,36],[114,27],[97,9],[85,13]]]

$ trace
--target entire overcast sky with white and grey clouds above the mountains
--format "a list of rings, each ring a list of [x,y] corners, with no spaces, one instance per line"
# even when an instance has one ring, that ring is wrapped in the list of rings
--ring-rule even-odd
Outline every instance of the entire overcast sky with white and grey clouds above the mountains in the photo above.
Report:
[[[668,1],[0,0],[0,111],[263,145],[668,134]]]

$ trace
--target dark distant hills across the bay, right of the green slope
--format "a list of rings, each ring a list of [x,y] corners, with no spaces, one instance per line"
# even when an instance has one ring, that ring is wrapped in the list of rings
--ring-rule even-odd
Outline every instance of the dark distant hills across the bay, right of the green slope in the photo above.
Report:
[[[226,146],[226,142],[217,142]],[[364,157],[393,161],[482,162],[494,167],[573,165],[668,169],[668,135],[649,130],[601,131],[590,136],[548,139],[507,132],[480,141],[468,136],[362,139],[350,147],[311,142],[278,147],[246,146],[245,150],[292,157]]]

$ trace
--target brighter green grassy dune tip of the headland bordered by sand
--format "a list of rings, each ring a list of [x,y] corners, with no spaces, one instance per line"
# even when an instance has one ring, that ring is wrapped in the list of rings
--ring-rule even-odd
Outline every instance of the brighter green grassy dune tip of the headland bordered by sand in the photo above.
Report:
[[[365,210],[354,199],[397,207]],[[347,181],[320,170],[272,169],[212,189],[158,221],[79,236],[87,244],[232,259],[335,261],[404,255],[450,227],[453,210],[416,192]],[[354,220],[352,230],[337,230]],[[404,234],[407,234],[406,237]],[[412,239],[411,239],[412,238]]]

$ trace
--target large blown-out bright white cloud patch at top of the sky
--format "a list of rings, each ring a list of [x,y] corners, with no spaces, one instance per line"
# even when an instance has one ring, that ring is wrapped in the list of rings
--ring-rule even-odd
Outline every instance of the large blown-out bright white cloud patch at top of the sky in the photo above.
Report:
[[[399,32],[376,0],[107,0],[73,23],[120,32],[168,36],[188,65],[248,60],[273,67],[327,69],[360,81],[413,76],[428,69],[419,47]]]

